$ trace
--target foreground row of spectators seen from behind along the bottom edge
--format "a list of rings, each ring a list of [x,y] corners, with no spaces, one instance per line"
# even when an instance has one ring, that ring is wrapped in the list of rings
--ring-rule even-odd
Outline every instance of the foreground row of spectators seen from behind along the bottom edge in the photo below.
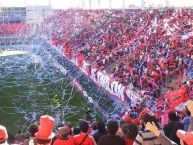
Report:
[[[39,125],[30,125],[27,139],[19,131],[12,142],[16,145],[193,145],[192,100],[183,112],[168,112],[169,121],[165,126],[161,126],[151,110],[141,110],[139,114],[136,110],[135,115],[133,111],[128,111],[124,116],[127,119],[120,121],[110,120],[106,124],[81,120],[79,126],[64,124],[57,131],[54,118],[43,115]],[[136,119],[139,121],[134,121]],[[0,144],[8,145],[8,142],[7,130],[0,125]]]

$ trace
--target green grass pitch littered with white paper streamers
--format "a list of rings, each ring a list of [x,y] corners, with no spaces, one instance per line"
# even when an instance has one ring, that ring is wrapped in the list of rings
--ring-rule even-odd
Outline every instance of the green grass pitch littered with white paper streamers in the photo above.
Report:
[[[0,57],[0,124],[8,131],[27,131],[42,114],[75,125],[88,104],[52,62],[35,68],[29,55]]]

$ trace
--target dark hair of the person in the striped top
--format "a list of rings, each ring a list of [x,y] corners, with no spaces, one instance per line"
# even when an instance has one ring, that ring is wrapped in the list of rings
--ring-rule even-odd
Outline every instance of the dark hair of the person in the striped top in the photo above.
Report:
[[[159,128],[158,121],[153,113],[145,113],[141,119],[144,124],[142,124],[142,130],[145,129],[145,124],[147,122],[154,122],[157,128]]]

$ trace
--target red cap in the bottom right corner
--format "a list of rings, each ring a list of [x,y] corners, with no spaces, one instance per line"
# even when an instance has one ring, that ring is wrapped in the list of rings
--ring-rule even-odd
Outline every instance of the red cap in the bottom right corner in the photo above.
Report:
[[[193,132],[178,130],[176,134],[180,139],[185,141],[188,145],[193,145]]]

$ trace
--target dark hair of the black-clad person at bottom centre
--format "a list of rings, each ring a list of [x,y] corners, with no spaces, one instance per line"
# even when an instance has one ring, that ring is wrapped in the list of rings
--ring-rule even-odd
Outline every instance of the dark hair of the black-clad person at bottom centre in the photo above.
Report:
[[[119,129],[118,122],[111,120],[107,124],[107,131],[110,135],[115,135]]]

